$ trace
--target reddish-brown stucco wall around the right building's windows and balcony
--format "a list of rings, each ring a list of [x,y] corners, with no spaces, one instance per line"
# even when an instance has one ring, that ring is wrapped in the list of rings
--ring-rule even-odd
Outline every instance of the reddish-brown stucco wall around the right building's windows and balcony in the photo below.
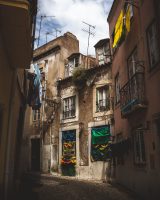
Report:
[[[160,196],[158,185],[160,159],[157,157],[159,154],[159,145],[157,142],[158,131],[155,128],[154,116],[160,113],[160,92],[159,80],[160,71],[159,63],[150,70],[148,45],[146,31],[153,20],[157,20],[159,24],[158,15],[155,9],[156,1],[143,1],[139,4],[139,8],[133,6],[134,13],[131,19],[131,30],[128,33],[125,41],[117,48],[113,55],[112,75],[113,86],[114,79],[119,73],[120,87],[122,88],[128,81],[127,60],[133,50],[137,47],[138,61],[144,61],[145,72],[145,97],[147,102],[147,109],[143,111],[133,112],[127,119],[122,119],[120,104],[115,105],[114,109],[114,134],[122,134],[124,138],[132,138],[133,129],[142,125],[147,130],[144,131],[144,143],[146,153],[146,164],[142,167],[134,164],[133,160],[133,145],[127,155],[124,156],[124,163],[117,164],[114,168],[114,179],[136,191],[146,198],[156,198]],[[158,1],[157,1],[158,2]],[[158,5],[158,3],[157,3]],[[122,2],[116,1],[109,17],[110,37],[112,36],[116,20],[122,9]],[[148,14],[149,13],[149,14]],[[157,27],[159,26],[157,24]],[[111,37],[112,38],[112,37]],[[160,45],[159,45],[160,47]],[[147,123],[149,126],[147,127]]]

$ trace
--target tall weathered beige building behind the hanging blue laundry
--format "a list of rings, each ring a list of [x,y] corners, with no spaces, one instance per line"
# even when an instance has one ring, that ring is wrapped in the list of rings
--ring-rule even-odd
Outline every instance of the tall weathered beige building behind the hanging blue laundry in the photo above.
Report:
[[[27,107],[24,137],[26,144],[26,171],[48,173],[51,166],[58,166],[59,125],[53,123],[59,109],[57,81],[65,74],[65,61],[74,52],[79,52],[79,41],[72,33],[65,33],[34,51],[29,74],[40,73],[40,106]],[[31,103],[32,104],[32,103]]]

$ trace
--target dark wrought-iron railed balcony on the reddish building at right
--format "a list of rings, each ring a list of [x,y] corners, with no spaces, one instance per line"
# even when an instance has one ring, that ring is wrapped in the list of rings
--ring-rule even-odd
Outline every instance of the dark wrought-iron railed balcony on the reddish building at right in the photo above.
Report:
[[[131,79],[120,90],[122,117],[147,107],[144,90],[144,70],[136,71]]]

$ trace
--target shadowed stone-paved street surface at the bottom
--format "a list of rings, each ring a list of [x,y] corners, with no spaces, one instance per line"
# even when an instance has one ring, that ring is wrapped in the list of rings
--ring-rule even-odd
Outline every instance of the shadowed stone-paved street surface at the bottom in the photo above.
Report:
[[[25,189],[24,189],[25,188]],[[107,183],[79,181],[68,178],[41,178],[24,183],[24,200],[138,200],[126,189]]]

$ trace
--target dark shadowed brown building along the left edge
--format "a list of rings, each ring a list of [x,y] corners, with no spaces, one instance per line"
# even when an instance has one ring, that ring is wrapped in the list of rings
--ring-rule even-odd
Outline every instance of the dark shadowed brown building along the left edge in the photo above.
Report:
[[[0,198],[17,191],[37,1],[0,1]]]

